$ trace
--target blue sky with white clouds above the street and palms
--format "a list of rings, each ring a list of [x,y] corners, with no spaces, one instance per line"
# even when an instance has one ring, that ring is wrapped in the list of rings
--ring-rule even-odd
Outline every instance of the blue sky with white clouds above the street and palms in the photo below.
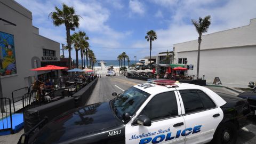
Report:
[[[33,15],[33,25],[39,34],[66,44],[65,26],[55,27],[49,14],[62,3],[72,6],[81,16],[79,28],[89,36],[90,49],[98,60],[115,60],[122,52],[130,60],[149,56],[147,31],[154,30],[157,39],[151,55],[173,44],[192,41],[198,33],[191,19],[211,15],[207,34],[249,25],[256,18],[255,0],[15,0]],[[75,31],[71,31],[73,34]],[[213,39],[214,41],[214,39]],[[61,52],[62,54],[62,52]],[[68,57],[68,51],[65,51]],[[71,51],[75,59],[75,50]]]

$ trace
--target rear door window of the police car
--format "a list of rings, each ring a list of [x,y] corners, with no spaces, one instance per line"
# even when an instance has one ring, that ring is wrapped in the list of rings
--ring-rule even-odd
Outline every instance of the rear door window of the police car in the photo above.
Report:
[[[186,114],[215,107],[214,102],[200,90],[181,90],[179,92]]]

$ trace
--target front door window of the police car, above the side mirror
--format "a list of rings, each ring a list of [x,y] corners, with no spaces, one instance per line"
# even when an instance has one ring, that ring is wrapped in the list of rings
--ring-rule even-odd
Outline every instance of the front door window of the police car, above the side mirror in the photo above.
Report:
[[[178,115],[177,100],[174,92],[165,92],[155,95],[140,115],[148,116],[151,121]]]

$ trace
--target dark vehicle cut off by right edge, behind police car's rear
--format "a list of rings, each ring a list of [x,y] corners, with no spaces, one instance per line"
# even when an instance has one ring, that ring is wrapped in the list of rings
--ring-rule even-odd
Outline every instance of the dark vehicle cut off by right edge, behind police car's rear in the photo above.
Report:
[[[250,91],[245,91],[237,97],[246,99],[249,102],[252,111],[254,111],[254,114],[256,115],[256,86],[253,82],[250,82],[248,87],[251,88]]]

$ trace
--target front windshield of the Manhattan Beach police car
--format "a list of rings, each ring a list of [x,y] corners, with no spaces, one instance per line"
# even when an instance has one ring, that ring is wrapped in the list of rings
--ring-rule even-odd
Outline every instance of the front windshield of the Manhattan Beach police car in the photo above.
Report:
[[[122,115],[126,112],[133,115],[149,95],[150,94],[145,91],[131,87],[114,99],[113,109],[115,114],[120,119],[122,119]]]

